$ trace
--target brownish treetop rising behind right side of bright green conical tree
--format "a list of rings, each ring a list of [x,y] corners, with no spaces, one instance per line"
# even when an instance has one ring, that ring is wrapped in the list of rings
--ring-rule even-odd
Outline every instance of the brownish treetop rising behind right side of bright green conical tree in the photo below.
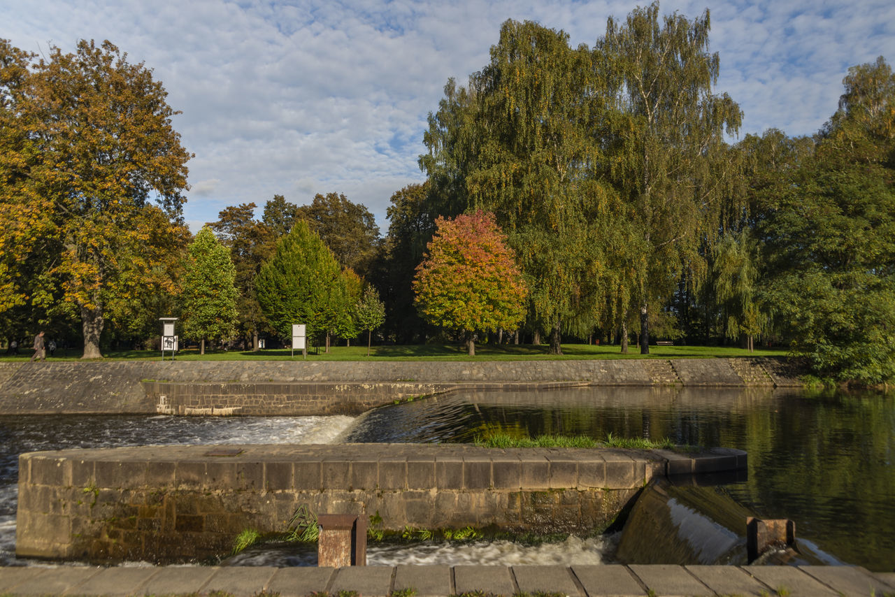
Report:
[[[311,205],[299,208],[299,216],[311,224],[336,259],[365,277],[379,252],[379,226],[370,211],[352,203],[344,194],[314,195]]]

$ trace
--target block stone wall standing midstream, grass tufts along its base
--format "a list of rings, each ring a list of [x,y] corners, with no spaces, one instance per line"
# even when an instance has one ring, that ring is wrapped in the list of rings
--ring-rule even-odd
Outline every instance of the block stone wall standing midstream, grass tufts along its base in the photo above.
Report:
[[[299,507],[385,530],[604,529],[655,476],[746,469],[746,453],[469,445],[167,446],[19,458],[16,554],[176,562],[228,553],[247,528],[283,533]]]

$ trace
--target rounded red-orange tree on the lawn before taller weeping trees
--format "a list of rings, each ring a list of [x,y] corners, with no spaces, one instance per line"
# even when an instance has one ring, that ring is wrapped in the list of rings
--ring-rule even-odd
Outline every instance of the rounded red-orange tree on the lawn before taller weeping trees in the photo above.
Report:
[[[475,332],[513,329],[524,319],[528,290],[493,214],[439,217],[435,224],[413,280],[416,305],[432,325],[463,333],[474,356]]]

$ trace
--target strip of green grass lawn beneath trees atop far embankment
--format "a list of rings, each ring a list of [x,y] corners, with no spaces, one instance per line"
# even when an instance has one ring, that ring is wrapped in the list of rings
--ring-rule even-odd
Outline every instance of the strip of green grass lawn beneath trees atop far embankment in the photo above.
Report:
[[[584,359],[692,359],[711,357],[737,356],[786,356],[785,349],[759,349],[749,353],[744,348],[733,346],[650,346],[650,354],[641,355],[635,345],[629,348],[630,354],[620,354],[618,345],[584,345],[564,344],[563,354],[547,354],[547,345],[477,345],[475,356],[466,354],[465,347],[458,345],[387,345],[373,346],[370,356],[367,347],[333,346],[329,354],[323,349],[317,353],[313,348],[308,353],[309,361],[574,361]],[[33,351],[21,351],[18,356],[0,354],[0,361],[24,362],[30,359]],[[143,360],[160,361],[161,353],[155,351],[107,351],[106,360]],[[166,353],[166,360],[170,353]],[[48,356],[47,361],[78,361],[80,350],[57,350],[55,356]],[[302,354],[296,352],[292,356],[288,349],[261,350],[257,353],[239,351],[206,351],[200,355],[198,349],[186,349],[176,354],[178,361],[301,361]]]

